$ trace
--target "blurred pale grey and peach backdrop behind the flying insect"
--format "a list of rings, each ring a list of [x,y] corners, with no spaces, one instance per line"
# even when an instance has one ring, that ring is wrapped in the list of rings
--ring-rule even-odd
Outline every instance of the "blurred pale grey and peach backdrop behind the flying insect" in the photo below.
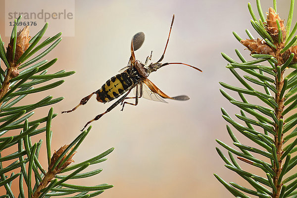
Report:
[[[50,1],[45,1],[45,6]],[[145,61],[153,50],[152,61],[157,61],[168,36],[172,14],[175,21],[163,62],[180,61],[197,66],[203,73],[190,67],[170,65],[152,73],[149,79],[169,96],[188,95],[188,101],[168,100],[168,104],[140,99],[137,106],[127,105],[123,112],[118,106],[93,128],[74,156],[75,162],[91,158],[111,147],[114,151],[108,160],[89,170],[103,168],[92,179],[76,184],[113,184],[101,198],[226,198],[232,195],[215,179],[219,174],[227,182],[245,185],[234,172],[224,167],[215,147],[215,139],[231,145],[226,122],[220,107],[230,115],[239,112],[219,92],[219,81],[240,86],[232,73],[225,68],[227,62],[220,52],[236,58],[239,49],[247,60],[249,51],[232,35],[242,38],[252,31],[246,0],[76,0],[75,37],[64,37],[48,60],[58,57],[50,69],[75,70],[63,85],[44,95],[32,95],[24,103],[38,101],[44,96],[65,99],[54,105],[59,115],[52,122],[52,149],[69,144],[78,136],[84,124],[102,113],[112,103],[102,104],[96,97],[68,114],[60,114],[77,105],[83,97],[98,90],[118,70],[126,66],[130,57],[132,36],[143,31],[146,40],[136,51],[136,58]],[[256,12],[255,0],[250,1]],[[3,1],[0,7],[4,7]],[[261,0],[263,11],[272,6],[272,0]],[[28,6],[31,6],[28,4]],[[278,12],[287,21],[290,0],[279,0]],[[3,10],[4,11],[4,10]],[[257,18],[259,16],[257,15]],[[294,18],[293,25],[295,24]],[[0,21],[1,34],[7,28]],[[49,29],[51,28],[49,24]],[[31,28],[34,35],[39,30]],[[56,29],[56,32],[59,32]],[[8,38],[3,38],[5,45]],[[228,93],[236,96],[229,91]],[[26,97],[27,98],[27,97]],[[46,116],[49,107],[36,110],[35,116]],[[234,117],[234,116],[233,116]],[[19,133],[19,132],[18,132]],[[236,133],[238,135],[238,133]],[[41,135],[34,139],[44,138]],[[238,135],[242,143],[247,139]],[[45,146],[45,145],[44,145]],[[45,147],[44,147],[45,148]],[[47,167],[46,151],[41,161]],[[225,152],[226,155],[228,155]],[[240,165],[262,175],[254,168]],[[17,184],[13,184],[17,188]],[[4,189],[0,187],[0,191]]]

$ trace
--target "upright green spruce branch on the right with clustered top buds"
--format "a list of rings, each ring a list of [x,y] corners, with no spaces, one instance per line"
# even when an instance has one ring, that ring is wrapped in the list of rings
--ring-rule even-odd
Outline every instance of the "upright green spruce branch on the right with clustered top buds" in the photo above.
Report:
[[[217,140],[219,145],[228,150],[231,159],[229,161],[217,148],[220,157],[226,163],[225,166],[245,178],[254,190],[233,182],[228,184],[218,175],[215,177],[235,197],[248,197],[246,194],[249,194],[259,198],[286,198],[296,195],[297,192],[297,174],[288,174],[297,165],[297,156],[291,157],[291,154],[297,151],[297,127],[287,134],[297,125],[297,113],[286,117],[297,106],[297,36],[294,37],[297,25],[290,33],[294,0],[291,0],[286,26],[284,20],[276,12],[276,0],[273,0],[273,8],[270,7],[266,12],[266,19],[260,0],[256,0],[256,4],[259,20],[256,19],[250,3],[247,7],[252,17],[251,25],[262,39],[254,39],[249,31],[246,31],[249,38],[246,40],[233,33],[236,39],[250,50],[254,60],[247,61],[238,49],[235,51],[241,62],[222,53],[223,58],[229,62],[226,68],[245,88],[220,82],[225,89],[237,92],[240,99],[231,97],[223,90],[220,91],[226,99],[241,109],[241,113],[235,116],[245,125],[233,119],[222,108],[223,118],[258,147],[240,143],[228,125],[227,131],[234,142],[233,145],[241,151]],[[266,61],[267,64],[264,65]],[[291,71],[290,68],[294,70]],[[236,70],[245,72],[244,78]],[[260,86],[263,91],[259,87],[253,88],[254,85]],[[244,95],[256,97],[260,101],[256,104],[249,103]],[[253,117],[246,115],[245,112]],[[295,140],[289,144],[288,141],[294,138]],[[266,159],[258,159],[250,152],[262,155],[262,158]],[[232,153],[237,155],[240,161],[260,168],[266,174],[267,179],[242,170]],[[294,179],[295,181],[284,185]],[[262,187],[260,183],[270,189]]]

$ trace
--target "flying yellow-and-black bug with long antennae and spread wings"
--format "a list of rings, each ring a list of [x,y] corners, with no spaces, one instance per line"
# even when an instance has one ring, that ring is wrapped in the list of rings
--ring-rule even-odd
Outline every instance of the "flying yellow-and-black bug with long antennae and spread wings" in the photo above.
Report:
[[[161,63],[161,61],[164,58],[165,51],[167,49],[173,21],[174,21],[174,14],[172,16],[169,35],[168,35],[164,52],[161,58],[157,62],[150,63],[148,65],[148,60],[151,60],[152,51],[150,53],[150,56],[147,57],[145,63],[139,60],[136,60],[134,51],[139,49],[144,43],[145,34],[143,32],[139,32],[135,34],[131,41],[131,56],[128,62],[128,66],[121,69],[119,71],[120,74],[117,74],[112,78],[110,78],[109,80],[107,80],[106,83],[102,85],[102,87],[99,90],[81,99],[80,103],[77,106],[75,106],[73,109],[68,111],[62,111],[62,113],[72,112],[75,109],[77,109],[77,107],[79,107],[80,105],[86,104],[94,94],[96,94],[97,96],[96,99],[102,103],[109,102],[113,99],[117,99],[120,97],[120,99],[118,99],[109,108],[107,108],[105,112],[97,115],[94,119],[87,122],[87,124],[81,130],[83,131],[91,122],[98,120],[100,117],[102,117],[104,114],[111,111],[114,107],[116,107],[120,103],[122,105],[121,110],[123,110],[125,104],[131,104],[136,106],[138,104],[138,99],[142,97],[146,99],[154,100],[154,101],[161,101],[161,102],[166,102],[164,99],[174,99],[174,100],[190,99],[188,96],[169,97],[165,93],[163,93],[159,88],[157,88],[150,80],[148,80],[148,75],[151,72],[154,72],[157,69],[170,64],[186,65],[202,72],[197,67],[194,67],[185,63],[181,63],[181,62]],[[134,89],[135,97],[127,97],[133,88],[135,88]],[[135,103],[127,102],[125,101],[126,99],[135,99]]]

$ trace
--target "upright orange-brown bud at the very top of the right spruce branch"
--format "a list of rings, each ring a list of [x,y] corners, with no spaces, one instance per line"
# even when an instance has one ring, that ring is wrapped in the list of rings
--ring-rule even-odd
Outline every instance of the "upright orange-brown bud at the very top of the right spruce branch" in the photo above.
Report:
[[[278,20],[282,31],[283,42],[285,42],[286,28],[284,25],[284,20],[282,20],[279,17],[279,15],[275,12],[275,10],[272,7],[269,7],[269,13],[266,12],[266,15],[267,15],[267,20],[265,25],[266,25],[266,30],[268,34],[272,37],[275,43],[278,42],[278,27],[276,22],[276,20]]]

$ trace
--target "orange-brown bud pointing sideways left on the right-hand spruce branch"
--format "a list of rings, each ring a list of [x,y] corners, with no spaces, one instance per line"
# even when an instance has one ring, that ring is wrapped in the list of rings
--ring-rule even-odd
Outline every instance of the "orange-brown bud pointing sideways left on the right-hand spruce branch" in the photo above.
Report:
[[[253,53],[257,53],[257,54],[269,54],[269,55],[273,55],[274,56],[274,51],[272,48],[270,48],[269,45],[266,44],[266,42],[264,40],[261,39],[257,39],[257,40],[251,40],[251,39],[247,39],[247,40],[241,40],[240,41],[244,46],[247,47],[247,49],[249,49],[251,52],[251,54]]]

